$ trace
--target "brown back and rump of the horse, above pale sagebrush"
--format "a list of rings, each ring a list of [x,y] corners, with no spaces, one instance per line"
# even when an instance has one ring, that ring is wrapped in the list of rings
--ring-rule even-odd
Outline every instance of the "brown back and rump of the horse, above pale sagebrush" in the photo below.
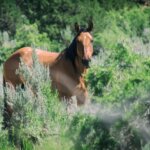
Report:
[[[47,67],[53,65],[59,55],[59,53],[48,52],[40,49],[35,49],[34,51],[31,47],[24,47],[17,50],[5,61],[3,65],[3,76],[6,82],[11,83],[13,86],[24,82],[23,78],[16,74],[16,70],[19,68],[21,60],[27,66],[32,66],[34,52],[37,55],[39,62]]]

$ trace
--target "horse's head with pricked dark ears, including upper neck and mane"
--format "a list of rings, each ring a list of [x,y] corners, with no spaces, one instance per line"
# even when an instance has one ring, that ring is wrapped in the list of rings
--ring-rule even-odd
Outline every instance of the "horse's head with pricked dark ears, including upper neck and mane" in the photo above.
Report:
[[[89,22],[87,28],[80,28],[78,23],[75,23],[76,36],[65,50],[66,58],[72,62],[79,74],[84,73],[89,67],[89,62],[93,55],[92,29],[92,21]]]

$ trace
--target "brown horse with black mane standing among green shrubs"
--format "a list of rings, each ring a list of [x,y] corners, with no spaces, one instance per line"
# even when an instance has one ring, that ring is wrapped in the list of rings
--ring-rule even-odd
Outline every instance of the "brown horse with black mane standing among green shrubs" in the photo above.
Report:
[[[69,100],[76,96],[77,105],[83,105],[88,101],[88,91],[84,81],[84,74],[89,68],[89,62],[93,55],[93,29],[92,21],[87,28],[80,28],[75,23],[76,36],[71,44],[62,52],[48,52],[36,49],[38,61],[49,67],[52,88],[58,91],[60,99]],[[3,64],[3,84],[11,84],[14,88],[24,85],[25,79],[16,74],[21,60],[27,65],[33,64],[33,48],[23,47],[14,52]],[[4,128],[11,118],[13,108],[4,99]]]

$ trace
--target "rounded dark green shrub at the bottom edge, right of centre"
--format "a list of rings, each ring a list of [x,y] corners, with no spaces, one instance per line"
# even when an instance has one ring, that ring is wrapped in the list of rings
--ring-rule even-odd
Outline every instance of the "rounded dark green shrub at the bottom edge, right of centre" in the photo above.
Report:
[[[77,114],[71,123],[74,149],[98,150],[117,148],[117,141],[111,136],[108,126],[99,118]]]

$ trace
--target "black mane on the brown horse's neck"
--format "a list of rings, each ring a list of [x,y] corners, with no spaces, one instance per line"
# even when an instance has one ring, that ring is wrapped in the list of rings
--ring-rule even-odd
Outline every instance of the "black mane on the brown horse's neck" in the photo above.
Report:
[[[87,30],[81,28],[80,31],[77,33],[69,47],[65,49],[65,57],[69,59],[73,65],[75,65],[75,58],[77,56],[77,41],[76,38],[80,35],[81,32],[87,32]]]

